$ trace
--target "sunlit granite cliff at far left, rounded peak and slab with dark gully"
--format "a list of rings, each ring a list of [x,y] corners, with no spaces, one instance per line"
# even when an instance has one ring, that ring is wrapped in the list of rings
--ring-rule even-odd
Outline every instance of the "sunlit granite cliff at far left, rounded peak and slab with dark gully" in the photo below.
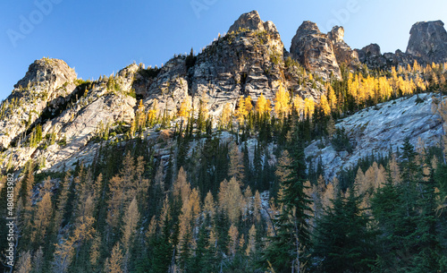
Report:
[[[0,124],[0,130],[6,132],[1,136],[6,149],[3,167],[9,160],[19,169],[33,159],[43,170],[62,171],[87,154],[86,163],[91,162],[94,154],[87,153],[91,148],[87,144],[97,136],[99,127],[113,130],[120,123],[130,124],[134,118],[136,99],[126,94],[131,91],[135,66],[111,76],[112,86],[108,80],[78,80],[74,70],[61,60],[44,58],[31,64],[6,100],[11,104],[17,98],[14,105],[19,107],[6,113]],[[21,88],[21,84],[27,88]],[[41,126],[42,138],[54,139],[46,149],[29,144],[31,130],[37,125]]]

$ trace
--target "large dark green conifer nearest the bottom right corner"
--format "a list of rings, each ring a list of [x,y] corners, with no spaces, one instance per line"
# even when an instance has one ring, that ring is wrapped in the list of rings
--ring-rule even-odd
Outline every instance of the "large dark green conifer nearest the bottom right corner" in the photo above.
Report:
[[[434,174],[426,179],[416,158],[414,147],[405,140],[401,183],[389,181],[372,199],[381,232],[377,272],[440,272]]]

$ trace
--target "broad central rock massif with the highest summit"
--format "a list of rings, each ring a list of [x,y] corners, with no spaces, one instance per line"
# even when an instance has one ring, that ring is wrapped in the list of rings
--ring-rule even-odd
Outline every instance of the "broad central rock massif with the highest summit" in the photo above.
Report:
[[[193,62],[181,55],[166,63],[150,84],[145,105],[152,107],[157,101],[159,110],[174,114],[183,100],[190,100],[195,109],[202,100],[217,117],[226,103],[234,108],[240,96],[250,96],[256,103],[263,94],[273,101],[281,84],[299,89],[285,80],[285,54],[273,22],[262,21],[256,11],[242,14]]]

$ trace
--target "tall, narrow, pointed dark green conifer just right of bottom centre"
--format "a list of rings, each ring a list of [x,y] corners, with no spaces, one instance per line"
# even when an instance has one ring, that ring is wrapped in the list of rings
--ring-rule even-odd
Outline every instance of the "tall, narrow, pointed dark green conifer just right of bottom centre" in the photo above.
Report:
[[[262,262],[270,262],[277,273],[293,272],[308,266],[309,197],[305,192],[306,163],[302,142],[295,133],[291,145],[291,164],[284,166],[290,171],[281,185],[283,194],[279,197],[282,206],[280,215],[274,219],[275,235],[270,237]]]

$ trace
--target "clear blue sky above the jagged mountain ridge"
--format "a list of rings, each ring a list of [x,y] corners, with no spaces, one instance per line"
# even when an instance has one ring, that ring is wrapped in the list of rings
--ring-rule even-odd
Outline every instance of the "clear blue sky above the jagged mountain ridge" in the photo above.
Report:
[[[2,1],[0,99],[43,56],[63,59],[82,79],[97,79],[134,61],[154,66],[191,47],[199,52],[251,10],[274,21],[287,49],[306,20],[325,31],[342,25],[350,47],[374,42],[382,52],[405,51],[416,21],[447,22],[445,0]]]

